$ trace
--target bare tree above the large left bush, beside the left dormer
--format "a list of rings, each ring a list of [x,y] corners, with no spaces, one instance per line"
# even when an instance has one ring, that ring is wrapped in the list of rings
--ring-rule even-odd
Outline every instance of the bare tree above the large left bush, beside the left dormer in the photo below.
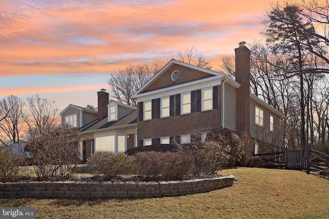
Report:
[[[46,128],[56,121],[59,111],[55,101],[50,101],[39,94],[27,97],[27,112],[24,120],[29,128]]]

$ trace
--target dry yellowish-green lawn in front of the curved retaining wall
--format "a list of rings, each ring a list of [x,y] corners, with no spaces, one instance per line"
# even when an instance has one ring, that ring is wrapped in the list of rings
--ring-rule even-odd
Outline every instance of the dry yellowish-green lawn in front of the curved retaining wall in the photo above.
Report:
[[[237,168],[232,187],[180,197],[0,199],[37,218],[329,218],[329,180],[293,170]]]

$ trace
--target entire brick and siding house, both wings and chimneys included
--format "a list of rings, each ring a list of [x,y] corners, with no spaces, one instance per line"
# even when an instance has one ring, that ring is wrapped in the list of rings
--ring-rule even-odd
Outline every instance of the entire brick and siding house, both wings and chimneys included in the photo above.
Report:
[[[227,75],[172,59],[134,95],[137,108],[98,92],[98,112],[69,105],[62,123],[80,127],[83,157],[98,151],[191,142],[191,132],[213,127],[251,139],[246,154],[281,147],[285,116],[250,93],[250,50],[235,49],[235,81]],[[205,133],[202,133],[203,135]],[[205,136],[203,136],[205,137]]]

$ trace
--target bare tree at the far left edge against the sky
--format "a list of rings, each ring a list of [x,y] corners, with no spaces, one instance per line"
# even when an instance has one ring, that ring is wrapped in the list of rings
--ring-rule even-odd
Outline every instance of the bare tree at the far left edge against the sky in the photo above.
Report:
[[[24,121],[23,107],[23,100],[15,95],[9,95],[0,101],[0,115],[3,118],[0,128],[13,143],[20,142],[20,131]]]

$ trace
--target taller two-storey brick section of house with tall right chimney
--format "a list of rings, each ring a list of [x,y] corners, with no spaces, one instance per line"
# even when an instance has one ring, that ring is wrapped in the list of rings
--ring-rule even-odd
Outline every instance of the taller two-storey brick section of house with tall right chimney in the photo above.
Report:
[[[235,49],[235,81],[227,75],[172,59],[134,95],[138,145],[190,143],[200,127],[250,137],[247,155],[266,144],[280,147],[285,116],[250,93],[250,50]]]

